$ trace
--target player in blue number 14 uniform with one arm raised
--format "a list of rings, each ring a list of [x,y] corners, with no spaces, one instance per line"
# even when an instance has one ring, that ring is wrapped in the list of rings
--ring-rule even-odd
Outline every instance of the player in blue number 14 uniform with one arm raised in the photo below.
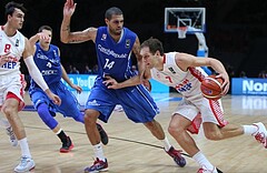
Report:
[[[86,104],[85,128],[92,144],[95,162],[85,172],[99,172],[108,170],[108,161],[100,144],[97,131],[97,119],[108,122],[116,104],[122,105],[128,119],[136,123],[144,123],[152,135],[160,140],[165,151],[179,166],[186,161],[179,151],[175,150],[164,133],[161,125],[154,119],[159,109],[144,85],[129,86],[121,90],[109,90],[103,81],[112,77],[118,81],[126,81],[137,75],[131,70],[131,52],[138,61],[139,73],[142,69],[142,58],[139,54],[140,42],[136,33],[123,27],[123,14],[118,8],[106,11],[107,27],[88,28],[83,31],[70,32],[70,20],[76,9],[73,0],[67,0],[63,7],[63,20],[60,37],[65,43],[79,43],[93,41],[98,57],[98,77]]]

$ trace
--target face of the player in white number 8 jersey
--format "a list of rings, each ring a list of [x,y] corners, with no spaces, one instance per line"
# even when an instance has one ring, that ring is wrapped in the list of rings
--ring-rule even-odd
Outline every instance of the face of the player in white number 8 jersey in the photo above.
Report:
[[[8,22],[14,29],[21,29],[24,22],[24,13],[20,9],[14,9],[12,16],[8,17]]]

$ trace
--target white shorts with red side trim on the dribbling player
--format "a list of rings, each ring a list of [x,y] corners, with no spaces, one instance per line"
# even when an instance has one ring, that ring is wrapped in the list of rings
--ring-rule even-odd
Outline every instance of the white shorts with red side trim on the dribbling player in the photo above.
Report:
[[[198,133],[198,129],[201,122],[211,122],[218,124],[221,128],[228,123],[226,120],[224,120],[224,110],[220,100],[214,101],[205,98],[199,98],[194,101],[188,101],[184,98],[174,112],[174,114],[176,113],[182,115],[184,118],[187,118],[192,123],[197,123],[191,124],[197,131],[192,133]],[[198,119],[197,115],[200,115],[200,121],[196,120]]]

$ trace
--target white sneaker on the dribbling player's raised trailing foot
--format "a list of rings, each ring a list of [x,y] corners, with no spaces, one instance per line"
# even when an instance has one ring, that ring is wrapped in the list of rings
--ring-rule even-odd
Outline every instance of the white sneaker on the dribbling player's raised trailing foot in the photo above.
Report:
[[[257,126],[258,130],[253,133],[253,135],[259,143],[261,143],[267,149],[267,131],[265,125],[261,122],[254,123],[254,125]]]

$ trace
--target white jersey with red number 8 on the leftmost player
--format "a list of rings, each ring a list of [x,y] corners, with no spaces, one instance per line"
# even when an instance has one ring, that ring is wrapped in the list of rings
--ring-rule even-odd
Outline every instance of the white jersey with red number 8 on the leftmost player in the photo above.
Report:
[[[20,58],[24,51],[26,38],[19,31],[13,37],[8,37],[0,27],[0,55],[10,52],[9,62],[0,67],[0,75],[20,74]]]

